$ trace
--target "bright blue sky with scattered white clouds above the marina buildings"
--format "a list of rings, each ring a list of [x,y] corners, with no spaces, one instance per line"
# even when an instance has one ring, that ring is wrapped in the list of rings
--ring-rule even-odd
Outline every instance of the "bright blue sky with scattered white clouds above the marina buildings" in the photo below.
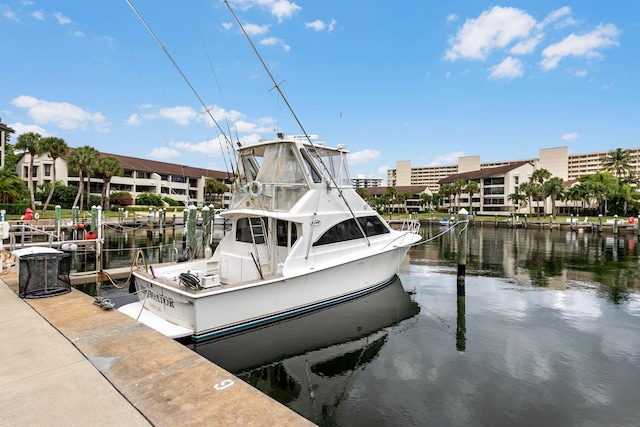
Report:
[[[130,1],[234,140],[302,133],[223,1]],[[353,176],[640,146],[637,0],[230,3]],[[0,40],[17,134],[226,170],[220,131],[126,0],[0,0]]]

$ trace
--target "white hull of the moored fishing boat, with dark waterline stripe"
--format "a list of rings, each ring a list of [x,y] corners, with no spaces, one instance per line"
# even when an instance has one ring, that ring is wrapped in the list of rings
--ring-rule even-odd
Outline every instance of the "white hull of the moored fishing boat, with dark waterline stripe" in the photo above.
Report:
[[[391,284],[408,247],[305,274],[197,292],[171,288],[134,272],[140,301],[121,311],[172,338],[202,341],[297,316]],[[183,263],[188,264],[188,263]],[[181,266],[182,271],[188,269]],[[161,275],[158,269],[155,273]],[[177,325],[178,328],[174,326]]]

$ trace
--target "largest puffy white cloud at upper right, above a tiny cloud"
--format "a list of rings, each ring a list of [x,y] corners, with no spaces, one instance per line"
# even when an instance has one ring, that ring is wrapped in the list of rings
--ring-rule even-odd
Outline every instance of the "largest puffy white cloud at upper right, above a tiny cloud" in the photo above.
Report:
[[[445,58],[450,61],[459,58],[483,60],[492,51],[529,37],[535,25],[536,20],[520,9],[494,6],[478,18],[465,21],[455,37],[449,40],[451,48]]]

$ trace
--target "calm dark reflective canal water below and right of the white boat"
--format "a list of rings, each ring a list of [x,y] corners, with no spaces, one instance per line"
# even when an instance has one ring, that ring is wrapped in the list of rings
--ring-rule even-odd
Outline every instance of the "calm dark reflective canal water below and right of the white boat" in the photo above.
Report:
[[[374,295],[192,347],[319,425],[640,424],[634,236],[470,229],[462,298],[456,239]]]

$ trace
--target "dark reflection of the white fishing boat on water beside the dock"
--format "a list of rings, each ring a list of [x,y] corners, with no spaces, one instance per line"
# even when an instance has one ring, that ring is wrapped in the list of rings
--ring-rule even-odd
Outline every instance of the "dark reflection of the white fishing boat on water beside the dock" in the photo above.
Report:
[[[317,423],[330,422],[392,326],[420,312],[400,279],[372,294],[188,347]]]

